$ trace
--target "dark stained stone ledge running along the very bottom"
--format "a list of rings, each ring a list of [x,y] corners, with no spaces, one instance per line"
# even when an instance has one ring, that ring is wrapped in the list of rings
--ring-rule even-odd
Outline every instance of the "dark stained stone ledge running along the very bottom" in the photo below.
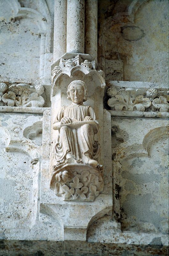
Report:
[[[4,256],[107,256],[107,255],[168,255],[168,246],[149,244],[89,243],[86,241],[0,240]]]

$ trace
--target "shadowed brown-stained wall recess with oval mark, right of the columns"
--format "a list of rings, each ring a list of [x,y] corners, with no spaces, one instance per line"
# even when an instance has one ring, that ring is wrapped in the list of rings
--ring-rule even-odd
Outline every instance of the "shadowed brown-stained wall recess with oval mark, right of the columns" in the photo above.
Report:
[[[127,81],[168,83],[168,1],[100,1],[99,18],[99,61],[122,60]]]

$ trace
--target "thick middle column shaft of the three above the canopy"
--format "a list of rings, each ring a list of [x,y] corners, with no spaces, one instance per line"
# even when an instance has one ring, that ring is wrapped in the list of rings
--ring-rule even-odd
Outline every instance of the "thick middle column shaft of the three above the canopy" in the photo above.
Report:
[[[84,53],[84,0],[67,0],[67,52]]]

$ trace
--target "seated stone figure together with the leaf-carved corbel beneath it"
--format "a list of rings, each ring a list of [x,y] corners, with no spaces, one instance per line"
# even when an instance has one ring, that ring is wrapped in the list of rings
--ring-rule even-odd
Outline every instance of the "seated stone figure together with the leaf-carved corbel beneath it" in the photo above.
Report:
[[[66,200],[93,201],[103,189],[99,144],[95,140],[99,125],[94,109],[83,105],[88,95],[83,81],[72,81],[67,95],[72,104],[60,109],[53,124],[59,133],[53,150],[57,164],[53,166],[51,184]]]

